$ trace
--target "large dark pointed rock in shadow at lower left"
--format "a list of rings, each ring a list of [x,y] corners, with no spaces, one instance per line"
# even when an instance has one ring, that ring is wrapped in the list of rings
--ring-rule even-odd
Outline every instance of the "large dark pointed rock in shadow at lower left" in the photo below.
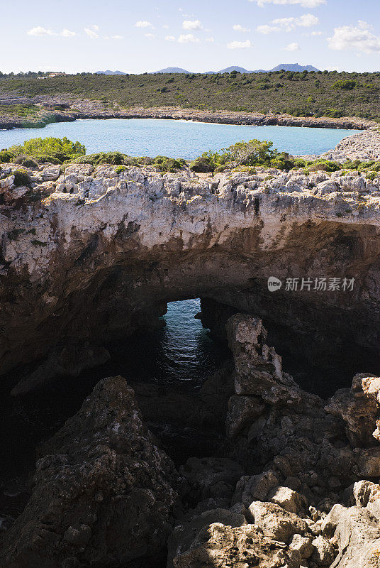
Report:
[[[124,378],[100,381],[41,453],[30,501],[4,535],[1,567],[160,562],[177,474]]]

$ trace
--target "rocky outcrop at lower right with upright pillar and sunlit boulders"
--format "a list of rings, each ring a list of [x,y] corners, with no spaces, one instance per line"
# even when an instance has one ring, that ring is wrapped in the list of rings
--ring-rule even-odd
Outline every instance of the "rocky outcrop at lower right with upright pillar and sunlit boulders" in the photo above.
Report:
[[[230,455],[259,473],[242,476],[230,499],[220,481],[233,484],[233,462],[188,461],[182,474],[203,501],[177,520],[168,568],[379,567],[380,486],[361,479],[380,464],[379,446],[367,447],[379,378],[355,376],[325,406],[284,373],[259,318],[234,315],[227,327],[235,361]],[[248,417],[251,399],[257,412]]]

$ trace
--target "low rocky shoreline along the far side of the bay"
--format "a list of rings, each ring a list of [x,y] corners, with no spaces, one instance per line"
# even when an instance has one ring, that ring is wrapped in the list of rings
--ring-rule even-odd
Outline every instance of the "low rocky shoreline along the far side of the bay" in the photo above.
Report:
[[[358,129],[379,128],[379,124],[354,116],[329,118],[291,116],[290,114],[261,114],[244,111],[208,111],[182,109],[180,107],[121,109],[110,107],[101,101],[78,99],[72,95],[40,95],[19,97],[18,94],[0,94],[0,104],[9,111],[0,114],[0,129],[41,128],[50,122],[74,121],[77,119],[172,119],[217,124],[241,124],[252,126],[306,126],[308,128]],[[26,120],[12,114],[13,104],[35,104],[39,116]]]

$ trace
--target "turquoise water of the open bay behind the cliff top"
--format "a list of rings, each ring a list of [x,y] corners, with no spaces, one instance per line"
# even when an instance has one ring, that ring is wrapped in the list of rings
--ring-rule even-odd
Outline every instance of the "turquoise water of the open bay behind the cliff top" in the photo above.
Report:
[[[240,126],[159,119],[78,120],[48,124],[44,129],[0,131],[0,148],[30,138],[67,136],[87,153],[121,151],[129,155],[196,158],[241,140],[272,140],[274,148],[293,154],[319,154],[335,148],[355,130],[308,129],[298,126]]]

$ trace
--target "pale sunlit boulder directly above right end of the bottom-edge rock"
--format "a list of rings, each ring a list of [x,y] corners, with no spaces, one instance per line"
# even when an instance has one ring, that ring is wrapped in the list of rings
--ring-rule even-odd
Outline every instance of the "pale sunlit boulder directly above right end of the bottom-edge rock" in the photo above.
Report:
[[[281,542],[291,542],[294,535],[304,535],[308,528],[300,517],[274,503],[254,501],[249,510],[255,525],[261,528],[265,535]]]

